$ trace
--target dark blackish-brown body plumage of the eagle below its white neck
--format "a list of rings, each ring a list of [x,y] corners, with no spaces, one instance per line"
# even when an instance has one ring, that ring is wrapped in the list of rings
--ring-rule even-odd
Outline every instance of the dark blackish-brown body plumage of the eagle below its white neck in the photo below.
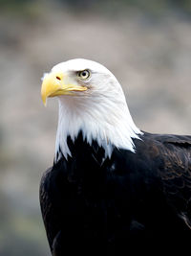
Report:
[[[134,143],[136,153],[115,149],[104,159],[96,141],[68,138],[73,157],[54,163],[40,185],[53,255],[120,256],[191,243],[191,136],[144,133]]]

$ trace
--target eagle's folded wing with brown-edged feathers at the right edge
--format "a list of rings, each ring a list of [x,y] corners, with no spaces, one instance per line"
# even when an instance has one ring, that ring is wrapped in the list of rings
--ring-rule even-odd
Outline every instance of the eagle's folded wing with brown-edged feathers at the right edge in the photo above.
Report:
[[[160,161],[163,192],[191,228],[191,136],[153,136],[159,142],[158,150],[152,153],[155,153],[155,161]]]

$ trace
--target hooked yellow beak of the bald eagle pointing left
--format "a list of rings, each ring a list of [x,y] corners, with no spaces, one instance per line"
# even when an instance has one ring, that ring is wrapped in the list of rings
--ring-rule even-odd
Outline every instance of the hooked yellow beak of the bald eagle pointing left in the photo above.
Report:
[[[44,105],[46,105],[48,97],[73,95],[75,91],[87,90],[86,86],[65,83],[64,81],[66,81],[66,76],[61,72],[51,72],[44,77],[41,86],[41,97]]]

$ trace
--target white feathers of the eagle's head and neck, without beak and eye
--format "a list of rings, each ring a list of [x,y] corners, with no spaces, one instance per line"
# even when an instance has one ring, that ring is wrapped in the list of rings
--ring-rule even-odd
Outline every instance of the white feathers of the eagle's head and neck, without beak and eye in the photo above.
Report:
[[[83,70],[88,70],[90,77],[82,81],[76,72]],[[138,138],[141,131],[132,120],[119,82],[107,68],[95,61],[79,58],[59,63],[52,71],[63,72],[70,83],[88,88],[75,95],[58,96],[55,155],[59,149],[66,158],[71,155],[67,136],[74,140],[80,130],[84,140],[90,145],[96,140],[108,157],[114,147],[135,151],[132,138]]]

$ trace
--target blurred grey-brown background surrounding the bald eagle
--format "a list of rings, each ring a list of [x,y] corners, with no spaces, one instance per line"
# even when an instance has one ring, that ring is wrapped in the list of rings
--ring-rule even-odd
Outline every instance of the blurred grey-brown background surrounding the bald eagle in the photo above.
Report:
[[[0,255],[51,255],[38,187],[57,102],[40,79],[69,58],[106,65],[139,128],[191,134],[191,0],[0,0]]]

